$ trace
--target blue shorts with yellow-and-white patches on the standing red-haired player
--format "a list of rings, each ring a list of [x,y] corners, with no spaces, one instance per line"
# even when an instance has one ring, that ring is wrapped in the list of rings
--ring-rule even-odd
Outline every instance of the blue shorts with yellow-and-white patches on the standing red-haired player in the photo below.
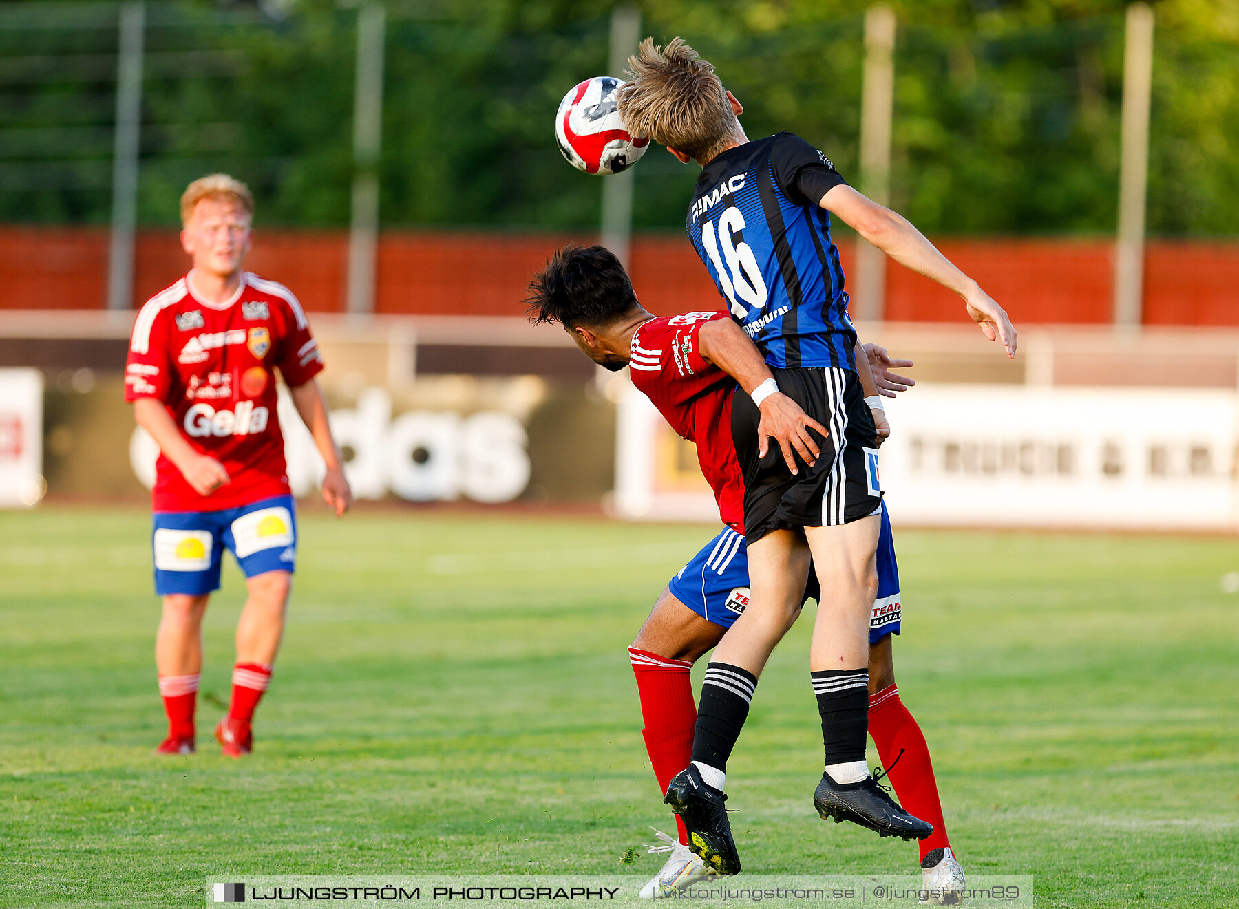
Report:
[[[276,495],[222,511],[156,511],[151,550],[155,593],[202,596],[219,589],[223,551],[245,577],[292,571],[297,562],[297,510]]]

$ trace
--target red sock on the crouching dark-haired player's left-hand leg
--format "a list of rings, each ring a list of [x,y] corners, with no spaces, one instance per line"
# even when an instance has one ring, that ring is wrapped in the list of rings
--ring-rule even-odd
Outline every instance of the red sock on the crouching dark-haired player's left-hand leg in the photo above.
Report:
[[[637,676],[641,716],[646,728],[646,750],[654,768],[659,794],[667,791],[672,776],[693,759],[693,727],[696,724],[696,703],[693,701],[693,680],[688,660],[668,660],[647,650],[628,648],[632,671]],[[688,843],[684,822],[675,815],[680,842]]]

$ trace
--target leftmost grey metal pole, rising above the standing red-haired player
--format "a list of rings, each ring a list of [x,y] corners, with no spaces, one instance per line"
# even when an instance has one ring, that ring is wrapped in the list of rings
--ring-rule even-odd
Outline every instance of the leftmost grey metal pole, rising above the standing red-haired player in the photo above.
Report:
[[[112,152],[112,248],[108,251],[108,308],[128,310],[134,298],[134,229],[138,223],[138,141],[142,114],[141,0],[120,4],[116,62],[116,129]]]

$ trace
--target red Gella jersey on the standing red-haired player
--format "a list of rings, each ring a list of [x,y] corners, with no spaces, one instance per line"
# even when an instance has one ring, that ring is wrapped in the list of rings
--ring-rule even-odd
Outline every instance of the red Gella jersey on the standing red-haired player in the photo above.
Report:
[[[156,511],[218,511],[289,494],[276,367],[289,385],[322,369],[310,322],[282,284],[247,271],[233,298],[217,305],[195,296],[186,275],[146,301],[129,342],[125,400],[161,400],[190,445],[232,479],[198,495],[160,454]]]

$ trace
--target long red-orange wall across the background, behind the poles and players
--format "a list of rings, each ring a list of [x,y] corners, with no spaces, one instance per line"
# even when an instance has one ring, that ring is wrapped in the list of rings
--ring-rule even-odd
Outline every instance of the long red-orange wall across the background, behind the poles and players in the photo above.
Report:
[[[380,313],[519,316],[529,276],[566,235],[389,232],[379,239],[375,310]],[[584,238],[589,240],[590,238]],[[1106,240],[943,240],[942,251],[975,277],[1017,324],[1110,321],[1113,244]],[[844,269],[852,246],[840,246]],[[289,285],[310,310],[343,308],[343,232],[260,230],[248,267]],[[138,238],[138,306],[188,265],[171,230]],[[0,227],[0,308],[97,308],[107,296],[108,235],[98,229]],[[688,240],[637,237],[637,296],[662,315],[714,310],[722,301]],[[959,300],[893,263],[886,316],[954,322]],[[1155,241],[1145,263],[1147,324],[1239,326],[1239,243]]]

